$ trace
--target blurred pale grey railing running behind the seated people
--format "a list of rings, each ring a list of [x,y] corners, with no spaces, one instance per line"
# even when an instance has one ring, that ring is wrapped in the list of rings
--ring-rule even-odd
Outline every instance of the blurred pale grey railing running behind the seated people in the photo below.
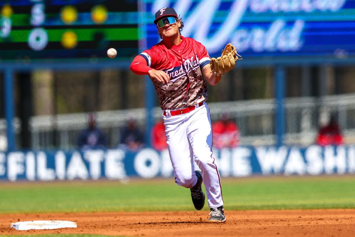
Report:
[[[275,144],[275,100],[209,103],[212,122],[228,113],[240,130],[241,145]],[[320,124],[327,122],[330,114],[337,115],[339,126],[348,144],[355,143],[355,93],[285,99],[285,136],[287,145],[306,146],[314,142]],[[154,119],[161,117],[160,108],[154,108]],[[97,112],[97,123],[108,135],[109,147],[117,147],[120,129],[128,119],[134,118],[144,130],[144,108]],[[73,149],[80,131],[87,126],[87,114],[41,115],[30,119],[32,149]],[[15,118],[15,131],[20,136],[21,123]],[[6,121],[0,120],[0,134],[6,134]],[[55,143],[53,143],[55,139]],[[19,139],[17,139],[18,141]],[[56,144],[54,147],[53,144]]]

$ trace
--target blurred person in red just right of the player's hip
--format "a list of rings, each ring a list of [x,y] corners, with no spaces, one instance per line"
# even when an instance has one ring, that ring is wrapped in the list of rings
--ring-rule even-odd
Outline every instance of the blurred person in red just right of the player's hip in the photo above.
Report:
[[[212,124],[213,146],[217,149],[233,148],[239,145],[238,126],[229,118],[228,113],[223,113],[220,120]]]

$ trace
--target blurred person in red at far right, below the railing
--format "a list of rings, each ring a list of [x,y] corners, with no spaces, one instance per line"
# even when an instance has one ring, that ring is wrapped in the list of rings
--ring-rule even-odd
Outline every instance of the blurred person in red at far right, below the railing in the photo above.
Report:
[[[331,115],[329,123],[320,128],[316,144],[320,146],[342,145],[344,144],[343,140],[343,135],[340,133],[340,128],[335,115]]]

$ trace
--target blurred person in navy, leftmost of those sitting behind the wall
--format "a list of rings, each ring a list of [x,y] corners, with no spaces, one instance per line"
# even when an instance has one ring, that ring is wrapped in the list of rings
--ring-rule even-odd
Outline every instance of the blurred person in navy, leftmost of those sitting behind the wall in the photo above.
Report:
[[[93,113],[88,115],[88,128],[81,131],[77,139],[80,149],[104,149],[107,146],[107,137],[101,129],[96,126],[96,116]]]

